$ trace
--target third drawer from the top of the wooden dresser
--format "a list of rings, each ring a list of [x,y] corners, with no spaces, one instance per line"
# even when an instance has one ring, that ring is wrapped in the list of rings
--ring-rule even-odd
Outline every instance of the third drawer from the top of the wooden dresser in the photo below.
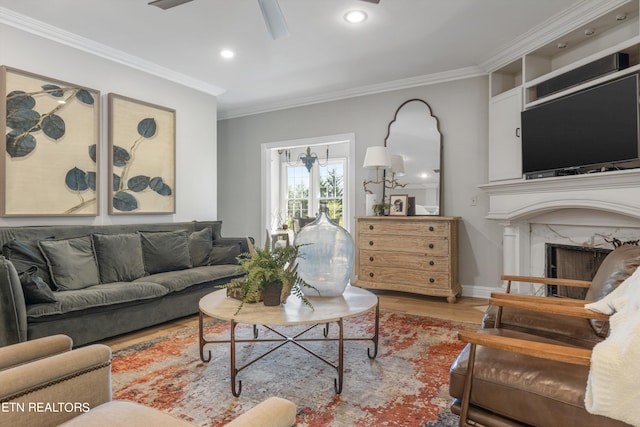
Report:
[[[449,271],[449,258],[424,253],[383,252],[361,250],[360,265],[363,267],[399,267],[429,271]]]

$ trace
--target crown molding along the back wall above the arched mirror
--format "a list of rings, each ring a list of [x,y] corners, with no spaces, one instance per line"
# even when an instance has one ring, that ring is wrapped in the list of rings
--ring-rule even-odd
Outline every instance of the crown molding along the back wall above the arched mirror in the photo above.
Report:
[[[394,90],[409,89],[418,86],[427,86],[437,83],[445,83],[454,80],[468,79],[471,77],[484,76],[487,73],[480,67],[466,67],[456,70],[444,71],[441,73],[428,74],[411,77],[407,79],[393,80],[390,82],[360,86],[357,88],[329,92],[322,95],[312,95],[295,99],[287,99],[262,105],[252,105],[239,108],[224,108],[218,100],[218,120],[234,119],[238,117],[250,116],[254,114],[268,113],[288,108],[303,107],[306,105],[321,104],[325,102],[339,101],[342,99],[355,98],[359,96],[374,95]]]

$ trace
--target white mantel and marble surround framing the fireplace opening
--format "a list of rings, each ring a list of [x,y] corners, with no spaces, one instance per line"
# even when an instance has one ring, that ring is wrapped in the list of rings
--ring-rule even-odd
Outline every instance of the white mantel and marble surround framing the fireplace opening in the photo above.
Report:
[[[545,245],[613,249],[606,240],[640,239],[640,169],[479,186],[489,196],[488,219],[503,226],[503,272],[545,275]],[[515,292],[544,288],[516,284]]]

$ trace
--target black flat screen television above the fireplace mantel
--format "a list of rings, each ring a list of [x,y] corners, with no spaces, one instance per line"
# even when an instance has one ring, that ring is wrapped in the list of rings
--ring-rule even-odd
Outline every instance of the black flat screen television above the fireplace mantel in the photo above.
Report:
[[[638,159],[638,75],[525,110],[522,171],[578,169]]]

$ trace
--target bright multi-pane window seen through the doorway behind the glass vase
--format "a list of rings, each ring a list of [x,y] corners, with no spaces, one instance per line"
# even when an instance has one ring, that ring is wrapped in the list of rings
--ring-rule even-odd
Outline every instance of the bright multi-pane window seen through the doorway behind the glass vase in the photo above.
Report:
[[[293,218],[313,218],[320,202],[327,203],[329,218],[342,225],[346,159],[329,159],[326,165],[315,163],[311,171],[305,166],[283,164],[283,211],[286,222],[293,226]]]

